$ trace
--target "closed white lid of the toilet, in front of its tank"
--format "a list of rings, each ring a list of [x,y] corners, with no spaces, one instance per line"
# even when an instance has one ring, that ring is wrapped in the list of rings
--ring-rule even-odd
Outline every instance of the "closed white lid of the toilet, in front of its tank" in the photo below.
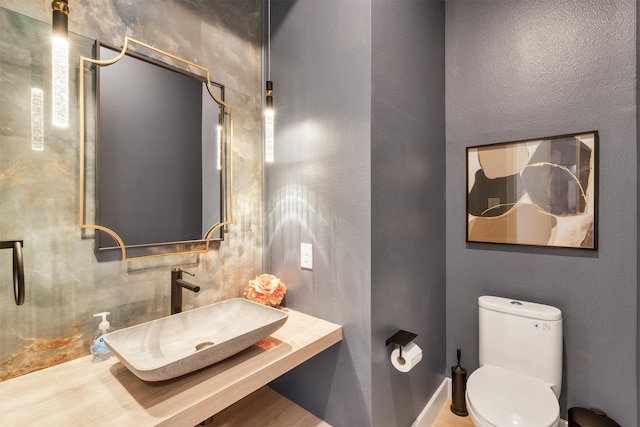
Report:
[[[555,425],[558,399],[542,380],[485,365],[467,380],[467,398],[474,412],[500,427]]]

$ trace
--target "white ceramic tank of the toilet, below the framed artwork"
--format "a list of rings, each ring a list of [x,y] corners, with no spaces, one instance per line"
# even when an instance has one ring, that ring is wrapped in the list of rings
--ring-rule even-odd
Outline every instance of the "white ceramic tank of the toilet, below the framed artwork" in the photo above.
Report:
[[[549,305],[478,299],[479,362],[511,369],[562,388],[562,312]]]

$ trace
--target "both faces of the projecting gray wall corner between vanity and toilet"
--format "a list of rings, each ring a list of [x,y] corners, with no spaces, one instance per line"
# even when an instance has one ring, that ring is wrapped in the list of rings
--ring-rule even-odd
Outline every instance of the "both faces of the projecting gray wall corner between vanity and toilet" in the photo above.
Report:
[[[445,364],[444,4],[272,5],[267,263],[290,307],[345,331],[274,385],[333,425],[409,425]],[[425,349],[410,374],[389,362],[398,329]]]

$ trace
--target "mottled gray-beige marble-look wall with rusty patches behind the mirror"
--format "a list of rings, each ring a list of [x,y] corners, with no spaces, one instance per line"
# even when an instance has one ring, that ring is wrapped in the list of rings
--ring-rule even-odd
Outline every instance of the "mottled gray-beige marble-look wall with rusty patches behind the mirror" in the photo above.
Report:
[[[93,313],[110,311],[116,328],[169,314],[173,266],[196,273],[192,281],[202,288],[184,293],[185,309],[241,296],[261,272],[260,0],[70,0],[69,6],[72,63],[89,55],[93,40],[119,46],[128,35],[208,67],[225,85],[236,111],[235,223],[205,255],[98,262],[93,240],[78,227],[77,66],[70,73],[70,127],[46,125],[44,151],[32,150],[25,93],[41,85],[48,94],[51,2],[0,0],[0,240],[24,239],[27,287],[25,304],[16,306],[11,252],[0,251],[0,380],[89,354],[98,324]]]

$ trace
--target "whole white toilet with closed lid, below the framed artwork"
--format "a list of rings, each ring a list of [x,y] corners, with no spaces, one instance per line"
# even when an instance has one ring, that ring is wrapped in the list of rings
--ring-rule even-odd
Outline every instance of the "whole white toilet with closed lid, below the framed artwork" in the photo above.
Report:
[[[560,420],[562,312],[507,298],[478,299],[480,368],[466,403],[479,427],[551,427]]]

